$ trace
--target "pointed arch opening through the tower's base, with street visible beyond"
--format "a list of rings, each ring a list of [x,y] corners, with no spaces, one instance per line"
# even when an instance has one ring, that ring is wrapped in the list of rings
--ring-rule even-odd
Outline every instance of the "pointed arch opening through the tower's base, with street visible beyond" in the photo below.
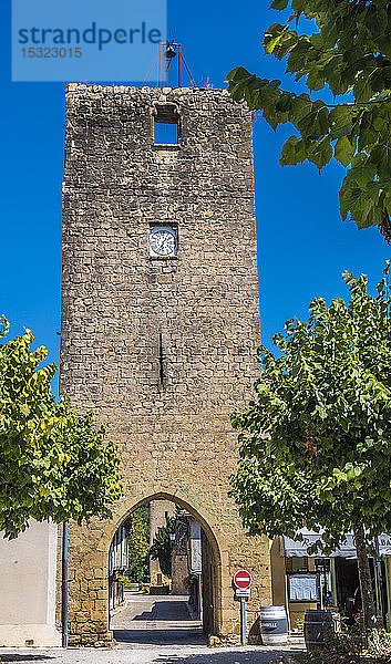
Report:
[[[217,631],[218,560],[213,544],[186,506],[166,498],[136,506],[109,552],[114,639],[194,644]]]

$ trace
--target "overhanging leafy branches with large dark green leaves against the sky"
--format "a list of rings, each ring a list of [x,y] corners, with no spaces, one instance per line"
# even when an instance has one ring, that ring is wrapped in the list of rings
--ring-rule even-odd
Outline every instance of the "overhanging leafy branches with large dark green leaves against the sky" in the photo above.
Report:
[[[319,169],[332,157],[349,167],[340,189],[342,219],[359,228],[379,226],[391,240],[391,1],[275,0],[289,9],[285,24],[265,32],[265,53],[287,59],[287,72],[307,77],[309,91],[328,89],[340,103],[280,89],[238,66],[227,75],[229,93],[276,128],[290,122],[297,134],[282,147],[280,164],[308,159]],[[306,34],[308,22],[316,32]],[[313,25],[313,23],[312,23]],[[348,95],[340,97],[340,95]]]

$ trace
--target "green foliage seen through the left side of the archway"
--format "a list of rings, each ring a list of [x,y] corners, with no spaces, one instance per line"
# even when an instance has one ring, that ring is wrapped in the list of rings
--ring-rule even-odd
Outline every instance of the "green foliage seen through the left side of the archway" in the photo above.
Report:
[[[146,583],[150,577],[150,506],[132,515],[126,577],[134,583]]]

